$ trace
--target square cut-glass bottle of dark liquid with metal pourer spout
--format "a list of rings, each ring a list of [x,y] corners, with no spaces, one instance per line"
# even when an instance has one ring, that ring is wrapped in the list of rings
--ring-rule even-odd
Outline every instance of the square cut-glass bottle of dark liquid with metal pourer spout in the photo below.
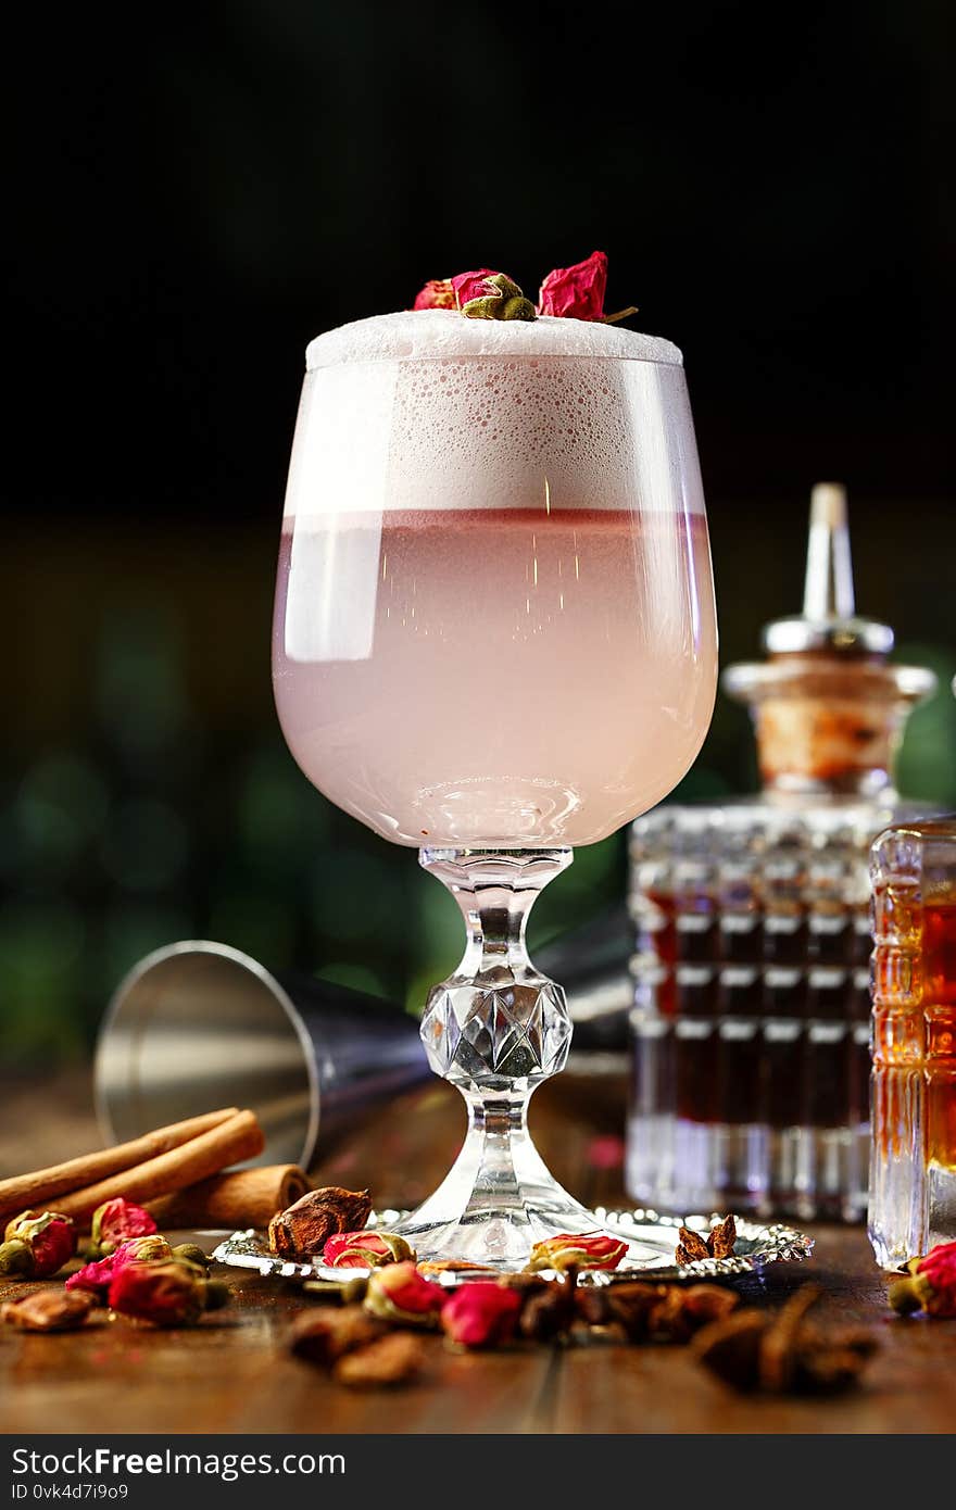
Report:
[[[933,672],[858,618],[846,494],[813,491],[803,613],[731,666],[760,797],[633,824],[627,1181],[643,1205],[859,1220],[868,1164],[867,853]],[[909,809],[912,811],[912,809]]]

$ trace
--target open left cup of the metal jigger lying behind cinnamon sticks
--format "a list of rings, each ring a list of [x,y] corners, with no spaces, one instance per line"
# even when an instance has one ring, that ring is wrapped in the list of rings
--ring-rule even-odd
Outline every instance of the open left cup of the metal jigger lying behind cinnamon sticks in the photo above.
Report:
[[[225,944],[156,950],[118,986],[95,1060],[109,1140],[249,1107],[266,1148],[255,1163],[308,1169],[376,1102],[430,1074],[418,1024],[399,1007],[323,980],[281,985]]]

